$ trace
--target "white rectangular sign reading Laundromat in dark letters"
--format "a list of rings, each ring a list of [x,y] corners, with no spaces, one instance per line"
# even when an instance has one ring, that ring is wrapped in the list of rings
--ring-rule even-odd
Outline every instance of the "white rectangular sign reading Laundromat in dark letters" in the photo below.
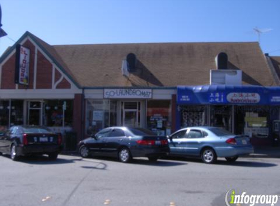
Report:
[[[105,99],[151,99],[151,89],[104,89]]]

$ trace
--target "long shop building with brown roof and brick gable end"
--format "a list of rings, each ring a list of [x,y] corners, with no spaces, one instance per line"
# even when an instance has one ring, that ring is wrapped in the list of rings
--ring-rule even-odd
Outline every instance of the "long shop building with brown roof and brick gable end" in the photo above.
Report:
[[[260,101],[229,102],[221,98],[228,87],[210,86],[203,101],[195,99],[203,92],[188,93],[188,85],[211,84],[210,71],[221,68],[242,71],[233,99],[249,93]],[[279,85],[271,69],[257,42],[49,45],[26,32],[0,57],[0,130],[45,125],[74,131],[77,141],[115,125],[158,135],[191,125],[269,134],[269,122],[279,119],[278,95],[264,103],[266,90],[258,88]],[[210,99],[210,91],[222,102]]]

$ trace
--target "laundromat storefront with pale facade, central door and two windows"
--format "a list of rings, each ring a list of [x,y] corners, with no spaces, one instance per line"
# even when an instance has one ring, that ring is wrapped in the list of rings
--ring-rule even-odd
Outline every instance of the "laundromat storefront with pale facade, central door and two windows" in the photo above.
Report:
[[[126,125],[171,134],[174,94],[175,88],[86,89],[86,132]]]

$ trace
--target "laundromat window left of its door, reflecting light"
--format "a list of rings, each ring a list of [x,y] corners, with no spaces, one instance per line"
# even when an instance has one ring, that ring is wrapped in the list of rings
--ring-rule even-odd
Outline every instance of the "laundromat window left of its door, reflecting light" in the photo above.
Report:
[[[86,133],[95,134],[103,128],[116,125],[117,102],[110,100],[86,101]]]

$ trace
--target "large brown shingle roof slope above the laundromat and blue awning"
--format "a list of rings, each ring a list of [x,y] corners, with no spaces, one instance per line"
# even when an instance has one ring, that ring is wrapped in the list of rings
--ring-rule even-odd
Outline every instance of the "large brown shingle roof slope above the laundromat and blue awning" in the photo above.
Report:
[[[209,84],[215,57],[228,55],[229,68],[243,71],[243,83],[275,85],[258,42],[128,43],[55,45],[82,86],[176,86]],[[122,60],[137,58],[138,72],[122,75]]]

